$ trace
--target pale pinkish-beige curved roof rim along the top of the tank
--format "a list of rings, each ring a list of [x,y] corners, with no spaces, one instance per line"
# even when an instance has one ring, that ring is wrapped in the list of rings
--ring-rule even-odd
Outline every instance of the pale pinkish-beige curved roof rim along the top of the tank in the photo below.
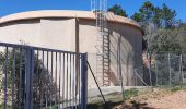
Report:
[[[70,11],[70,10],[40,10],[40,11],[27,11],[15,14],[10,14],[3,17],[0,17],[0,24],[21,21],[21,20],[31,20],[31,19],[48,19],[48,17],[78,17],[78,19],[88,19],[95,20],[95,13],[93,11]],[[127,24],[133,27],[137,27],[142,33],[141,26],[132,21],[131,19],[115,15],[112,12],[108,12],[106,15],[108,22],[116,22],[121,24]]]

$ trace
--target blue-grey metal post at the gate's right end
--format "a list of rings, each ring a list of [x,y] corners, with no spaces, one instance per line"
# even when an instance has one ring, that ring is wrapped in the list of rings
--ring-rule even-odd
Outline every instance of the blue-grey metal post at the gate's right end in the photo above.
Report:
[[[88,96],[88,55],[81,55],[81,109],[86,109]]]

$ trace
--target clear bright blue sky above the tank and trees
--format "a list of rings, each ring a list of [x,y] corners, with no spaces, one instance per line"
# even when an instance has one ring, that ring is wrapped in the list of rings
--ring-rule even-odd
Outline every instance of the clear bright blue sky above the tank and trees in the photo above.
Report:
[[[130,16],[147,0],[108,0],[108,7],[120,4]],[[150,0],[154,5],[166,3],[186,22],[186,0]],[[0,0],[0,16],[33,10],[90,10],[91,0]]]

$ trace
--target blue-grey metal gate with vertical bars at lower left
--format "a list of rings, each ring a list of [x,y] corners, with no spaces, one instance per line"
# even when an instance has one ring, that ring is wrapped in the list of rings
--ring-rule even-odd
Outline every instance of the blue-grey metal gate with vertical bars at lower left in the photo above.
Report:
[[[0,108],[86,109],[86,53],[0,43]]]

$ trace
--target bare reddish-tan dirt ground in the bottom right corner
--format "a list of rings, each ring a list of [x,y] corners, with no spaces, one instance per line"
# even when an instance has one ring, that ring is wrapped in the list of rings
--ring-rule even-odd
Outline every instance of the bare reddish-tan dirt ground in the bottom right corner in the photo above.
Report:
[[[131,97],[115,109],[186,109],[186,90],[153,89]]]

